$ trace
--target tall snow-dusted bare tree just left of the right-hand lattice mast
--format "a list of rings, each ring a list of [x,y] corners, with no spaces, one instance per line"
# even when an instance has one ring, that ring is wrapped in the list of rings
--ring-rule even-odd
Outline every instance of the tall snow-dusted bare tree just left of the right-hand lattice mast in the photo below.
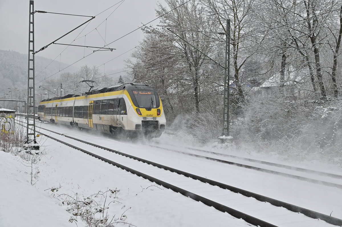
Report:
[[[201,92],[206,89],[208,65],[207,56],[215,53],[217,41],[208,35],[213,27],[212,21],[207,19],[201,11],[201,5],[196,0],[184,4],[184,0],[167,0],[168,8],[159,5],[157,15],[165,14],[160,23],[163,33],[169,34],[173,40],[172,53],[179,56],[180,67],[183,68],[183,80],[191,85],[196,112],[200,112]],[[177,6],[184,4],[177,8]],[[166,30],[172,28],[180,37],[176,37]]]

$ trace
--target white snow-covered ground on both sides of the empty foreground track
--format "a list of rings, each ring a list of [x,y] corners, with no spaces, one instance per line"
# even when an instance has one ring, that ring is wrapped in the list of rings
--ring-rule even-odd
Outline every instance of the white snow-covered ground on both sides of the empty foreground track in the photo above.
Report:
[[[53,127],[64,133],[70,129]],[[328,215],[332,211],[332,216],[342,217],[342,198],[338,196],[341,195],[341,189],[244,170],[182,154],[166,151],[162,153],[147,144],[118,142],[101,134],[78,130],[68,130],[68,134],[163,165],[171,166],[176,162],[176,166],[172,167],[297,203],[296,205]],[[25,161],[19,156],[0,152],[0,180],[3,182],[0,189],[0,227],[76,226],[73,219],[75,216],[70,212],[80,201],[97,203],[91,207],[95,217],[101,218],[108,214],[111,219],[114,216],[116,226],[129,226],[124,223],[135,226],[249,226],[245,221],[227,213],[207,207],[201,202],[174,193],[54,140],[46,137],[39,137],[38,140],[42,154],[21,154],[23,158],[30,156],[40,159],[32,166],[28,159]],[[172,139],[166,135],[159,139],[170,140]],[[333,172],[339,172],[339,168],[332,168]],[[325,170],[327,169],[329,166],[326,166]],[[226,171],[226,174],[218,174],[222,171]],[[79,206],[83,210],[88,207]],[[101,212],[103,207],[104,212]],[[67,209],[70,211],[66,211]],[[87,226],[80,218],[76,223],[77,226]]]

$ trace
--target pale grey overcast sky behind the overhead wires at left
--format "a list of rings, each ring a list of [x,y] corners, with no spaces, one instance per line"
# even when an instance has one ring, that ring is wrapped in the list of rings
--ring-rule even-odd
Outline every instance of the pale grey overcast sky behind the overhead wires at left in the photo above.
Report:
[[[103,47],[105,41],[107,44],[111,43],[142,26],[142,23],[146,24],[155,19],[155,9],[157,9],[158,2],[165,5],[163,0],[35,0],[34,10],[96,16],[118,3],[107,11],[97,15],[95,19],[91,20],[87,27],[87,24],[83,25],[81,28],[57,41],[58,43],[64,44],[70,44],[72,42],[73,45],[86,44],[89,46]],[[27,54],[29,0],[0,0],[0,18],[0,49]],[[68,31],[86,22],[89,18],[90,17],[35,13],[35,51],[38,51],[41,47],[51,43]],[[105,20],[106,18],[107,20]],[[156,25],[158,22],[159,20],[156,20],[152,25]],[[94,30],[96,27],[97,29]],[[83,28],[85,29],[82,31]],[[128,52],[103,66],[105,62],[129,51],[136,45],[139,45],[139,42],[142,41],[142,39],[143,32],[139,29],[110,44],[110,48],[116,48],[113,52],[99,51],[91,54],[93,53],[92,49],[94,48],[67,47],[64,45],[51,44],[47,49],[37,53],[37,55],[51,59],[56,58],[58,61],[61,59],[61,62],[71,65],[75,61],[82,59],[83,56],[91,54],[80,60],[75,66],[80,67],[85,64],[88,66],[101,66],[101,71],[107,73],[113,72],[113,70],[119,71],[123,69],[123,60],[129,58],[131,52]],[[65,48],[66,50],[63,51]]]

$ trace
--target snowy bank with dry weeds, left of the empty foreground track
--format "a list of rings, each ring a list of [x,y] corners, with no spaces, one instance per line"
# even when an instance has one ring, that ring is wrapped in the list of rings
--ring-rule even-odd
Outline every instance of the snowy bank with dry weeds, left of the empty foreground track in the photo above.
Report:
[[[38,140],[39,155],[0,152],[0,227],[88,226],[74,215],[86,211],[88,221],[107,216],[103,226],[248,226],[56,141]]]

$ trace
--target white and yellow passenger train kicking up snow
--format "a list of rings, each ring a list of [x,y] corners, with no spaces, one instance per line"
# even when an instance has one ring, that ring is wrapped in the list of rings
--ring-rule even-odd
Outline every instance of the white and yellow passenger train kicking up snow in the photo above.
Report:
[[[39,103],[38,118],[113,135],[160,137],[166,118],[155,89],[130,83]]]

